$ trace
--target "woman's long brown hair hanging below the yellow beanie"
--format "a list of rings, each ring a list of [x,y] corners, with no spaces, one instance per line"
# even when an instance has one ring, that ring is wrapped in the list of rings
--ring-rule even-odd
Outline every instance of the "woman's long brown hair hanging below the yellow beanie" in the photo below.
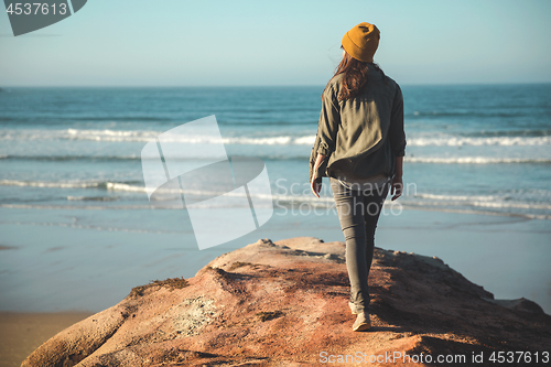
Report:
[[[343,46],[341,46],[341,48],[343,48]],[[382,73],[379,65],[377,64],[371,64],[371,65],[376,69]],[[344,74],[342,80],[341,94],[338,95],[338,100],[356,97],[361,91],[361,89],[364,89],[364,87],[367,85],[368,73],[369,73],[369,63],[360,62],[352,57],[345,51],[343,60],[338,64],[335,71],[335,75],[333,75],[334,78],[338,74]],[[382,75],[385,75],[385,73],[382,73]]]

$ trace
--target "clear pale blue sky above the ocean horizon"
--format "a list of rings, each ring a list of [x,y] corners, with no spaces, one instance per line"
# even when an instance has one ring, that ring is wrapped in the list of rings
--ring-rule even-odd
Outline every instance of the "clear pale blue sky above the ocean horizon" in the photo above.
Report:
[[[18,37],[0,13],[0,86],[324,85],[363,21],[400,84],[550,83],[550,15],[549,0],[88,0]]]

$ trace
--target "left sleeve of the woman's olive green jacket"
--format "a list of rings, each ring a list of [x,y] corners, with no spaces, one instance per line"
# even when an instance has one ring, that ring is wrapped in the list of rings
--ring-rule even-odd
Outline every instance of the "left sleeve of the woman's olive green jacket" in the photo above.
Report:
[[[317,137],[320,138],[317,153],[329,156],[335,151],[341,112],[337,96],[332,86],[328,86],[322,95],[322,112],[317,125]]]

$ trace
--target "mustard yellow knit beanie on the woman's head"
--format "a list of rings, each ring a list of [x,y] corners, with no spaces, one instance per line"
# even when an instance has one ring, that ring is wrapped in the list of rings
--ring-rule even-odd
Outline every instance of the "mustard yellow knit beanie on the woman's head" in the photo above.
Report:
[[[343,36],[343,48],[352,57],[372,63],[374,55],[379,46],[380,32],[375,24],[359,23]]]

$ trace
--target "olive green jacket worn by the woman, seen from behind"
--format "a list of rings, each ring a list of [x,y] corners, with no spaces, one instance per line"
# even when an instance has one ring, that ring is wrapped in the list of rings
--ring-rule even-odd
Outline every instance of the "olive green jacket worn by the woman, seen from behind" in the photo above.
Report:
[[[317,134],[310,155],[310,181],[344,173],[367,179],[392,176],[397,156],[404,155],[403,97],[398,84],[375,65],[367,86],[354,98],[338,100],[343,74],[322,95]],[[314,171],[317,153],[326,159]]]

